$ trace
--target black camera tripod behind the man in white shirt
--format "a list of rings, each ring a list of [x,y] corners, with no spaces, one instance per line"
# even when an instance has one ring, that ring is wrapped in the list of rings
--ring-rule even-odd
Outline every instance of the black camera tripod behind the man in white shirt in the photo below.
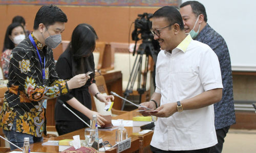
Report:
[[[134,50],[135,52],[135,50]],[[136,77],[138,76],[138,84],[137,84],[137,91],[139,93],[139,104],[141,103],[141,96],[142,94],[146,91],[146,80],[147,80],[147,72],[148,72],[148,56],[152,56],[154,62],[156,63],[157,61],[157,55],[154,53],[155,49],[154,46],[152,44],[152,40],[142,40],[142,44],[139,45],[139,49],[137,50],[137,55],[136,55],[136,59],[133,65],[133,69],[132,72],[130,74],[129,77],[129,81],[127,84],[127,87],[124,91],[124,98],[126,99],[127,96],[130,95],[130,93],[133,93],[133,87],[136,81]],[[143,55],[146,55],[145,58],[145,65],[144,65],[144,72],[143,72],[143,82],[141,85],[141,74],[142,74],[142,59],[143,59]],[[124,109],[125,106],[125,100],[123,100],[123,105],[122,105],[122,109]]]

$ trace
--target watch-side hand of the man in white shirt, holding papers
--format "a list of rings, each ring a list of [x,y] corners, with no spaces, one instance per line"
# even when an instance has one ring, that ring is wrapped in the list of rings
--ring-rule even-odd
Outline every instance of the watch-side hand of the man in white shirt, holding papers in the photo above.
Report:
[[[157,117],[169,117],[176,112],[177,112],[177,103],[168,103],[168,104],[161,105],[156,109],[156,112],[150,112],[149,114]]]

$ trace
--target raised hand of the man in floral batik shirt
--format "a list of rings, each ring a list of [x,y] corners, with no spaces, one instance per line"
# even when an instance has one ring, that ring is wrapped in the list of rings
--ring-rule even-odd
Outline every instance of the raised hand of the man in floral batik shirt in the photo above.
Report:
[[[75,77],[71,78],[69,81],[67,81],[67,84],[69,89],[75,89],[85,85],[88,79],[90,79],[89,75],[78,74],[75,75]]]

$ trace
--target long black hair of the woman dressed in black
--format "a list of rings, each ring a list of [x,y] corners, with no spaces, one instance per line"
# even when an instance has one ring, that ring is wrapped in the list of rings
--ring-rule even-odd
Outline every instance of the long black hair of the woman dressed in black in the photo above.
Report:
[[[86,62],[95,49],[98,36],[90,24],[78,24],[72,33],[72,38],[69,43],[69,48],[72,55],[72,73],[73,75],[85,73],[84,65],[90,65]],[[94,69],[91,68],[90,70]]]

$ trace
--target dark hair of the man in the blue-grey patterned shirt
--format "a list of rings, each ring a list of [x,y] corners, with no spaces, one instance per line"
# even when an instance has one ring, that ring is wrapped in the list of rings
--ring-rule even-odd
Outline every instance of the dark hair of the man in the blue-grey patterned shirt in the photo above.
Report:
[[[205,11],[205,7],[204,5],[202,5],[201,3],[197,2],[197,1],[187,1],[184,2],[180,5],[180,8],[190,5],[192,8],[193,13],[198,16],[200,14],[204,15],[204,21],[207,22],[207,15],[206,15],[206,11]]]

